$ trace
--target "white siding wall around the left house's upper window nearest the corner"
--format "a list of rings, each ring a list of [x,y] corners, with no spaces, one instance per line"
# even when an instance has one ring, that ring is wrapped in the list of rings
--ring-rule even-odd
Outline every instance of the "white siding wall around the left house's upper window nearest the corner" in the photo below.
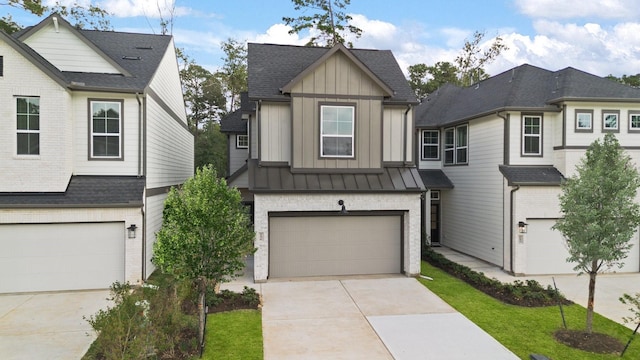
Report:
[[[121,109],[122,127],[120,136],[124,139],[121,149],[123,160],[90,159],[91,109],[89,100],[124,100]],[[94,92],[74,92],[72,99],[74,175],[128,175],[138,174],[139,106],[133,94],[113,94]]]

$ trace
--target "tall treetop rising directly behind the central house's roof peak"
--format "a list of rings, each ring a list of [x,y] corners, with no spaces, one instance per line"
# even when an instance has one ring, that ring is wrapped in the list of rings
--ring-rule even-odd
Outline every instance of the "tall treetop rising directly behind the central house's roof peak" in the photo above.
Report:
[[[345,14],[347,5],[351,0],[291,0],[295,10],[318,11],[313,15],[301,15],[297,18],[283,17],[282,21],[291,26],[289,34],[298,34],[301,31],[316,30],[319,34],[312,36],[307,46],[327,46],[332,47],[335,44],[344,44],[343,34],[351,33],[359,38],[362,35],[362,29],[349,24],[352,20],[350,15]],[[303,11],[304,12],[304,11]],[[346,45],[353,47],[353,43],[348,42]]]

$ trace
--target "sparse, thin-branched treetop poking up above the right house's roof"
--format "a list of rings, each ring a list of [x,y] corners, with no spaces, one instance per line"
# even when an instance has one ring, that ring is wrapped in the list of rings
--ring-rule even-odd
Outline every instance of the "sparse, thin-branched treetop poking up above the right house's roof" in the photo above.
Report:
[[[456,57],[458,66],[458,78],[463,86],[470,86],[474,82],[484,80],[489,77],[484,67],[491,63],[503,50],[507,50],[507,45],[502,42],[500,36],[493,40],[491,46],[483,51],[480,42],[484,39],[485,33],[476,31],[473,33],[473,40],[466,40],[462,47],[462,53]]]

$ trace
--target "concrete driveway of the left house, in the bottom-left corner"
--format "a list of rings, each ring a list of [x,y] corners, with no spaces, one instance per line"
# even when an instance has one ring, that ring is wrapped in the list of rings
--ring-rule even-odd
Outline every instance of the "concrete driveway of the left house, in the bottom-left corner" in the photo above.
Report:
[[[82,317],[105,309],[109,290],[0,295],[0,357],[80,359],[95,339]]]

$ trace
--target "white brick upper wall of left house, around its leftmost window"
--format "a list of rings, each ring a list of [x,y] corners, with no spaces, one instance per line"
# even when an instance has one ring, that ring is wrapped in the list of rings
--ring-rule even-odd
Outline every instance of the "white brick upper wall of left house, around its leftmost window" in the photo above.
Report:
[[[73,161],[70,95],[4,42],[0,53],[0,192],[63,192]],[[15,96],[40,98],[39,155],[17,155]]]

